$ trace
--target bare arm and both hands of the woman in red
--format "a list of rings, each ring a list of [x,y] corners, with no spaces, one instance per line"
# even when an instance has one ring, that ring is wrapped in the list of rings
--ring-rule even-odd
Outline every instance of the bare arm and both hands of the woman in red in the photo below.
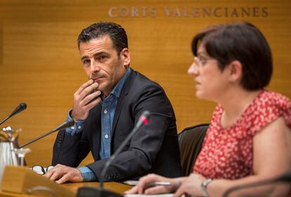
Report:
[[[254,137],[254,175],[243,179],[226,180],[214,179],[207,186],[207,193],[210,197],[221,197],[226,190],[233,186],[250,184],[266,179],[278,177],[285,172],[291,172],[291,130],[285,124],[283,118],[278,118],[267,125],[261,132]],[[179,181],[177,181],[179,180]],[[174,197],[188,194],[190,196],[202,196],[201,184],[205,177],[198,174],[191,174],[188,177],[178,179],[168,179],[158,175],[147,175],[140,179],[138,186],[127,193],[169,193],[178,190]],[[173,187],[155,186],[145,189],[147,182],[166,181],[171,182]],[[181,181],[181,186],[177,182]],[[265,186],[252,187],[233,191],[230,196],[287,196],[290,192],[290,184],[269,184]]]

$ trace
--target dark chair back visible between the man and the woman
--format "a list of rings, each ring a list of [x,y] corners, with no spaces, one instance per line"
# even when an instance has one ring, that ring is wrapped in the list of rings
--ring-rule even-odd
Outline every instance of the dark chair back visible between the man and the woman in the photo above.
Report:
[[[178,135],[181,166],[185,176],[193,172],[193,166],[201,151],[209,123],[202,123],[185,128]]]

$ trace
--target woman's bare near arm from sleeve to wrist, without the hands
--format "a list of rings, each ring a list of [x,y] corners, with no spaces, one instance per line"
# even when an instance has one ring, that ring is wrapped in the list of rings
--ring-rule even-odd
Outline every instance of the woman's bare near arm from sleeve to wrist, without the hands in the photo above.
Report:
[[[254,175],[237,180],[216,179],[207,186],[209,196],[222,196],[233,187],[272,179],[291,172],[291,130],[278,118],[254,136]],[[268,184],[234,191],[230,196],[287,196],[290,184]]]

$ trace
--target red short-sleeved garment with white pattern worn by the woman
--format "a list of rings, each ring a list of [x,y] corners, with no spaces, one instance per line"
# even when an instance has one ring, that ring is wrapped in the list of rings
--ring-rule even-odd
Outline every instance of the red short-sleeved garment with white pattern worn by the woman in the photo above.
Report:
[[[291,101],[279,93],[261,90],[229,128],[221,125],[223,111],[220,105],[216,107],[193,171],[212,179],[252,175],[254,135],[280,116],[291,128]]]

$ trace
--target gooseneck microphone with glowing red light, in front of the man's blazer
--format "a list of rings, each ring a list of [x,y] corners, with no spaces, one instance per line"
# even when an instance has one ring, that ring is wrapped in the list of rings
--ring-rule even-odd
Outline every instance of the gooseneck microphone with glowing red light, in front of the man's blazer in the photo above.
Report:
[[[93,188],[90,186],[83,186],[78,189],[77,197],[122,197],[119,193],[115,193],[114,191],[109,191],[103,189],[103,182],[105,181],[105,173],[108,170],[108,167],[112,163],[112,161],[115,159],[115,157],[122,151],[122,149],[126,146],[127,142],[131,139],[131,137],[136,133],[136,131],[141,128],[142,125],[148,124],[148,118],[150,118],[150,111],[143,111],[141,116],[138,119],[138,122],[136,123],[136,126],[133,130],[131,130],[131,133],[125,138],[125,140],[120,144],[118,149],[115,151],[112,156],[106,161],[102,172],[101,172],[101,179],[100,179],[100,186],[98,188]]]

